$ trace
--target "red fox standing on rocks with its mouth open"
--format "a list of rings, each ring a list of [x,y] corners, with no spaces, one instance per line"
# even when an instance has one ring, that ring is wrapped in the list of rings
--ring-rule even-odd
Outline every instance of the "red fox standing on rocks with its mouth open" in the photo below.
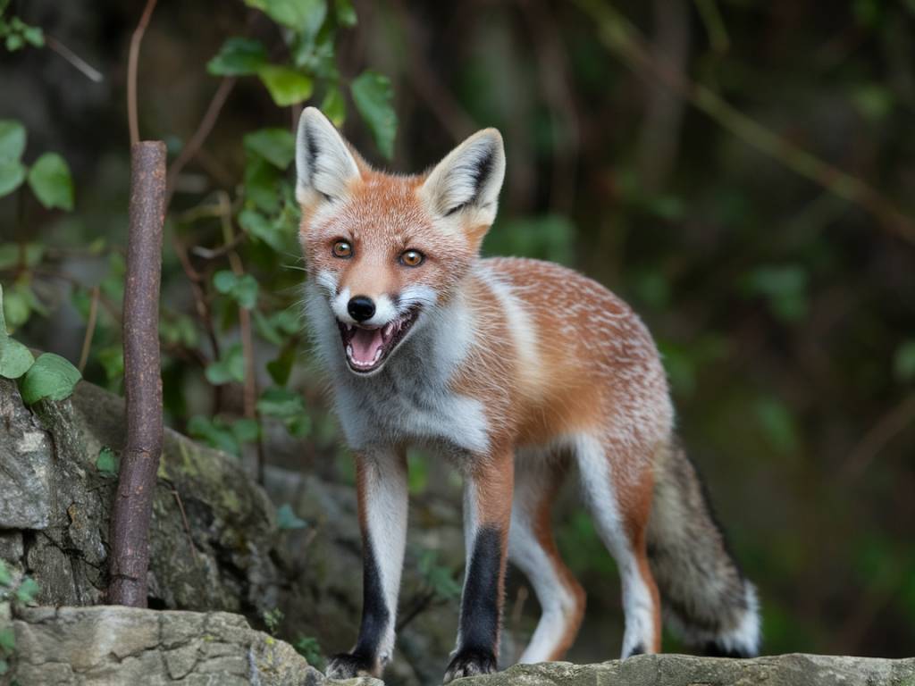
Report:
[[[509,560],[542,608],[521,661],[560,659],[575,639],[585,592],[550,527],[571,466],[619,566],[622,657],[661,649],[661,598],[688,645],[756,655],[756,591],[677,443],[647,328],[579,273],[479,257],[505,173],[501,134],[480,131],[430,172],[394,176],[308,108],[296,172],[307,318],[356,455],[363,545],[359,638],[328,675],[380,676],[392,658],[408,445],[465,479],[467,567],[446,683],[497,669]]]

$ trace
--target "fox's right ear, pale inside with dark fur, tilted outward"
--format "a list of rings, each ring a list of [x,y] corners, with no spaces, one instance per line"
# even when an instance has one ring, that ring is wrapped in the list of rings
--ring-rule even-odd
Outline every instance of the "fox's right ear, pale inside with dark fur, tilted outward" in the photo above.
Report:
[[[426,177],[422,193],[439,216],[473,209],[479,212],[477,222],[491,224],[504,177],[502,136],[496,129],[484,129],[438,163]]]

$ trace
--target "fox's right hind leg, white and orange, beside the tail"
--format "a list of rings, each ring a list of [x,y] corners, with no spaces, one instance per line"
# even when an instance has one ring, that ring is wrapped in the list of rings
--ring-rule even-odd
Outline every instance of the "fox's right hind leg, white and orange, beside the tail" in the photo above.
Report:
[[[617,561],[626,629],[622,657],[661,650],[661,599],[648,563],[651,450],[608,453],[608,441],[581,435],[575,454],[597,533]],[[614,460],[611,466],[610,459]],[[631,459],[630,459],[631,458]],[[626,479],[619,478],[625,474]],[[620,498],[625,489],[625,498]]]

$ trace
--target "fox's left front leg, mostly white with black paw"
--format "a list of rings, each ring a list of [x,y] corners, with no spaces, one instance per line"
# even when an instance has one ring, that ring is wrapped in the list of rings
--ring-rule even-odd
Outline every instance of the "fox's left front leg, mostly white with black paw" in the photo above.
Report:
[[[362,622],[356,647],[330,660],[328,677],[380,677],[393,655],[406,543],[406,476],[406,455],[402,450],[356,458],[362,531]]]

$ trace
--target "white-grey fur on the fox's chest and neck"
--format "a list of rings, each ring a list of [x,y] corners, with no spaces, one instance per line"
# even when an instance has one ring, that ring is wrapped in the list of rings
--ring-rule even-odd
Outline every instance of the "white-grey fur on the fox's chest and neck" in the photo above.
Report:
[[[350,371],[325,295],[309,287],[306,302],[350,448],[445,443],[474,453],[486,450],[489,436],[483,404],[449,388],[473,345],[472,322],[463,302],[423,312],[410,337],[371,377]]]

